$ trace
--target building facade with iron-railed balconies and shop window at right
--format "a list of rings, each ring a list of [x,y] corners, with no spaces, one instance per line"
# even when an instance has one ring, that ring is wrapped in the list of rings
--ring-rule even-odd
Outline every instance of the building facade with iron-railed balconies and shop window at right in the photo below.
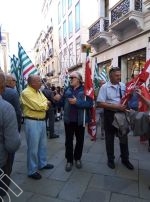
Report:
[[[99,0],[99,18],[89,27],[99,70],[119,66],[122,81],[137,75],[150,59],[150,1]]]

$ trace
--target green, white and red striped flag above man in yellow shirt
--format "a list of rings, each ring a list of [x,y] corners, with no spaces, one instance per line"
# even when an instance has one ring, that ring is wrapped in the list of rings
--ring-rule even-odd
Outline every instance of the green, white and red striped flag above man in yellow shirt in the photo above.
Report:
[[[29,56],[18,42],[18,57],[20,60],[20,66],[22,69],[22,75],[24,78],[24,85],[27,85],[28,76],[31,74],[38,74],[37,68],[34,66],[32,61],[30,60]]]

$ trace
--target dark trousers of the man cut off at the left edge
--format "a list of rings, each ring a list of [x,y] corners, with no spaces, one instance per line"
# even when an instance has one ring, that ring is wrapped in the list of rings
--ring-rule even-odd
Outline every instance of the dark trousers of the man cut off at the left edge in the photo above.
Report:
[[[11,159],[11,156],[8,155],[8,159],[7,159],[7,162],[6,162],[6,165],[3,166],[1,168],[1,170],[4,172],[4,174],[2,174],[0,172],[0,174],[2,174],[2,177],[1,177],[1,180],[0,180],[0,196],[3,197],[6,195],[6,192],[8,191],[8,187],[10,185],[10,179],[7,177],[7,176],[10,176],[11,174],[11,170],[12,170],[12,159]],[[7,186],[6,186],[6,185]],[[4,190],[5,191],[4,191]]]

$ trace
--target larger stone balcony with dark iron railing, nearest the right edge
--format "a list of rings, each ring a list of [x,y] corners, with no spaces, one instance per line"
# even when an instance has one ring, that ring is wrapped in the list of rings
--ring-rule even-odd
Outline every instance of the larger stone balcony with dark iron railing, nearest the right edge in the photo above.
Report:
[[[109,29],[119,41],[143,30],[142,0],[121,0],[111,8],[110,16]]]

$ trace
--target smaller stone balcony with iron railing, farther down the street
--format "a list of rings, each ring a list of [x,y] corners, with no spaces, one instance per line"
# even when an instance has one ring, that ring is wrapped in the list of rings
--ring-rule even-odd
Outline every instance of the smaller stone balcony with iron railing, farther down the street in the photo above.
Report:
[[[108,18],[100,17],[90,28],[89,28],[89,40],[95,49],[98,49],[100,44],[107,46],[111,45],[111,34],[108,32],[109,20]]]

